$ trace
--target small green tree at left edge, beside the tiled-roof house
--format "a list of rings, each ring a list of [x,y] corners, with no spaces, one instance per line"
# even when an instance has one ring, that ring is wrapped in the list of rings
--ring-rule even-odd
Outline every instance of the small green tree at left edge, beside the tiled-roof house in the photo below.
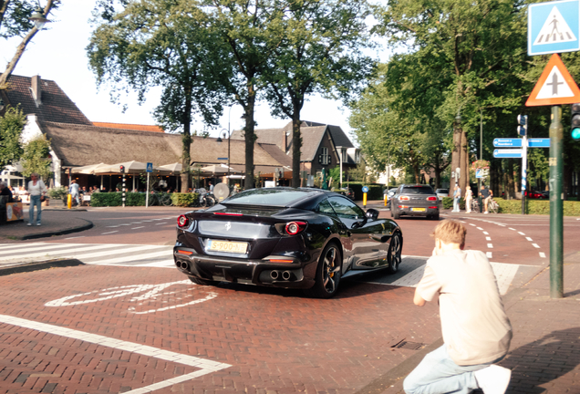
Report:
[[[21,109],[8,107],[4,117],[0,117],[0,171],[20,160],[24,151],[20,134],[25,124],[26,117]]]

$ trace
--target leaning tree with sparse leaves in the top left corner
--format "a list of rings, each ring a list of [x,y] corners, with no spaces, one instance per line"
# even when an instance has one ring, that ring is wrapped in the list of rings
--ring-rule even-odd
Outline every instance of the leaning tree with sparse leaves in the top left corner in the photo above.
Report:
[[[48,16],[59,4],[60,0],[47,0],[43,14]],[[28,19],[37,7],[38,4],[33,0],[0,0],[0,37],[22,37],[22,41],[16,47],[15,55],[8,62],[5,71],[0,75],[0,89],[6,88],[6,79],[10,77],[16,68],[18,60],[24,54],[28,43],[38,33],[36,26]]]

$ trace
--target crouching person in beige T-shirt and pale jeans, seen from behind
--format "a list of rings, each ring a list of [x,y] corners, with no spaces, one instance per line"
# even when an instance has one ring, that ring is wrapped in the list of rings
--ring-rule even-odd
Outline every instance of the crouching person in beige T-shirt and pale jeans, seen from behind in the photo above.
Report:
[[[502,394],[512,371],[495,365],[507,354],[512,325],[505,314],[492,265],[480,251],[464,251],[467,230],[444,220],[413,302],[439,298],[443,346],[425,356],[405,381],[407,394]]]

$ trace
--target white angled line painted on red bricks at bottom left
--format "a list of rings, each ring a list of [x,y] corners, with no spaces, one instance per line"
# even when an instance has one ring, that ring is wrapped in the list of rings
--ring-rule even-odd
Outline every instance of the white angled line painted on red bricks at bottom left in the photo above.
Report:
[[[59,337],[78,339],[98,346],[111,347],[118,350],[140,354],[150,358],[160,358],[165,361],[171,361],[194,368],[200,368],[199,370],[186,375],[181,375],[176,378],[162,380],[160,382],[142,387],[140,389],[125,391],[125,394],[141,394],[148,393],[150,391],[154,391],[157,389],[164,389],[167,387],[171,387],[174,384],[181,383],[186,380],[191,380],[192,378],[199,378],[203,375],[207,375],[209,373],[216,372],[224,368],[232,367],[229,364],[220,363],[217,361],[203,358],[196,358],[181,353],[175,353],[170,350],[163,350],[158,347],[150,347],[135,342],[128,342],[111,337],[103,337],[97,334],[90,334],[88,332],[78,331],[67,327],[48,325],[46,323],[40,323],[33,320],[26,320],[15,316],[0,315],[0,322],[11,326],[24,327],[39,332],[57,335]]]

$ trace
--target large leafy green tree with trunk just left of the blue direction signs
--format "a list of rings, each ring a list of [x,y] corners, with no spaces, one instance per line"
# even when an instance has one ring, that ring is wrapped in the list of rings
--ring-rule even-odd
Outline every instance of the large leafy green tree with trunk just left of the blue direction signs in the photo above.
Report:
[[[452,168],[467,171],[470,140],[482,109],[512,111],[523,97],[526,17],[522,1],[393,0],[380,8],[392,44],[416,53],[426,75],[451,81],[435,112],[453,128]],[[420,92],[417,92],[419,95]],[[454,124],[461,116],[461,123]],[[461,177],[465,190],[467,177]]]

